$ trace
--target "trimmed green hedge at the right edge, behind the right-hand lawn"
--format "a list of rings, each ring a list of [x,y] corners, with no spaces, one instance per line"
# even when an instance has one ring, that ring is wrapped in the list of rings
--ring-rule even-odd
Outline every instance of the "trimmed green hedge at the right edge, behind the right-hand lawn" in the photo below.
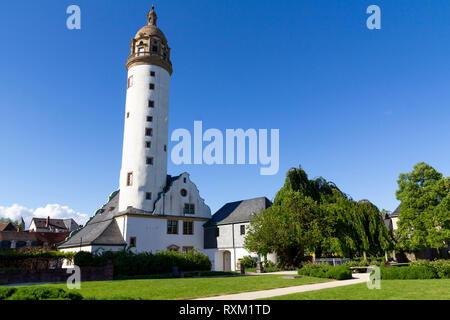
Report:
[[[450,279],[450,260],[419,260],[409,266],[382,266],[381,279]]]

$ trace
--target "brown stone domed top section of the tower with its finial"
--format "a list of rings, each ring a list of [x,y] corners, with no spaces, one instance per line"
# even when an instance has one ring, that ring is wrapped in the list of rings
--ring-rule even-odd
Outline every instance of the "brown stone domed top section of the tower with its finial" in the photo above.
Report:
[[[147,25],[142,27],[131,39],[130,56],[127,60],[127,70],[133,66],[153,64],[160,66],[172,74],[170,48],[164,33],[156,26],[157,15],[152,7],[147,15]]]

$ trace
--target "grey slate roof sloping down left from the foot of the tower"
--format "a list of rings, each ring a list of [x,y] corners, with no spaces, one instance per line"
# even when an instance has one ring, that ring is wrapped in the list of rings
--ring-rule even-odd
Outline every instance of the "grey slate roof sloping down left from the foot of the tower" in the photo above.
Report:
[[[58,248],[72,248],[85,245],[126,245],[119,226],[114,217],[119,213],[119,195],[116,191],[111,194],[108,203],[88,221],[86,226],[71,233],[69,238]]]

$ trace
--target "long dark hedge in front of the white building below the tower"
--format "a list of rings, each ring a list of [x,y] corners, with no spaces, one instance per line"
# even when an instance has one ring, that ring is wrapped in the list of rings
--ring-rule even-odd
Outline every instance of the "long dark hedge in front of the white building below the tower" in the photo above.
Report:
[[[208,256],[195,250],[187,253],[178,251],[157,251],[133,253],[129,250],[105,252],[96,255],[78,252],[74,264],[79,267],[104,266],[109,258],[114,265],[114,276],[135,276],[172,273],[173,267],[179,271],[210,271],[211,261]]]

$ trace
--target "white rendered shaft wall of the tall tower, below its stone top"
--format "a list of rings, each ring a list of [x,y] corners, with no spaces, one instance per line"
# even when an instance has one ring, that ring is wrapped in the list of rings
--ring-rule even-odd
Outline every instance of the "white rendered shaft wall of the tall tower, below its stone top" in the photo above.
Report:
[[[150,76],[151,71],[155,77]],[[158,193],[166,184],[170,75],[158,66],[138,65],[128,70],[128,78],[131,76],[133,85],[127,90],[125,106],[119,211],[129,206],[153,211]],[[150,90],[150,83],[155,84],[154,90]],[[149,107],[149,100],[154,101],[154,108]],[[147,116],[153,121],[147,122]],[[146,128],[153,129],[153,136],[145,135]],[[146,148],[146,141],[151,142],[150,148]],[[153,165],[146,164],[147,157],[153,157]],[[132,186],[127,186],[128,172],[133,172]],[[152,193],[151,200],[146,200],[147,192]]]

